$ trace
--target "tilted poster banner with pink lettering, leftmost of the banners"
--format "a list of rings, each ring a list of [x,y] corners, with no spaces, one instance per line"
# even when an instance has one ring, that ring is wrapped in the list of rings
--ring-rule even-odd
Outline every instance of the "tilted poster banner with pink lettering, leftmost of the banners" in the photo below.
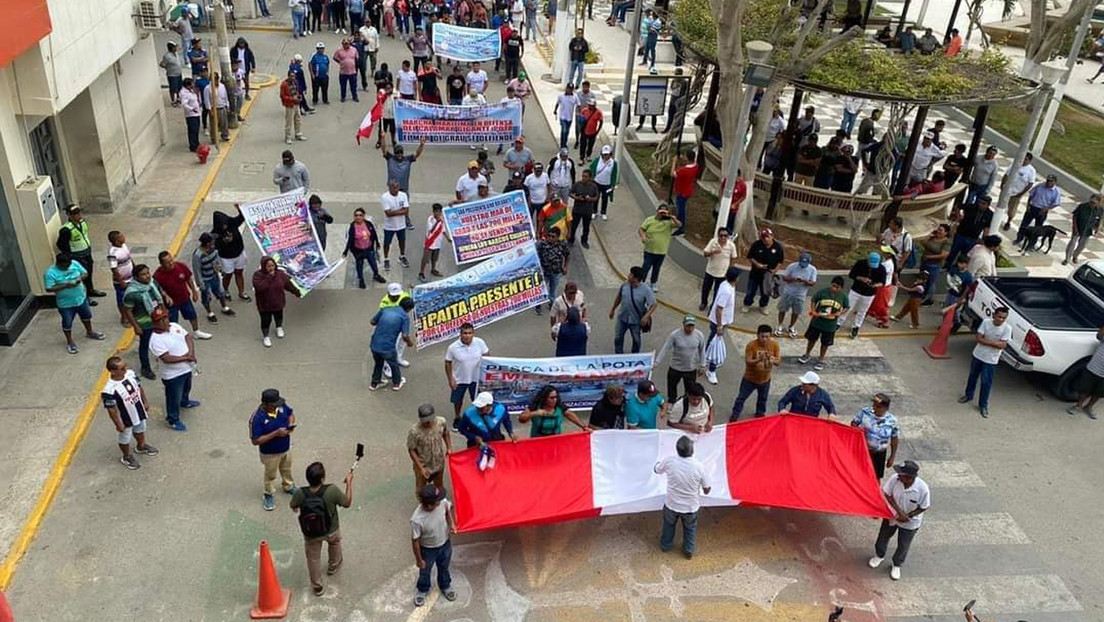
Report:
[[[341,265],[326,260],[301,188],[241,207],[261,252],[276,260],[302,294]]]

